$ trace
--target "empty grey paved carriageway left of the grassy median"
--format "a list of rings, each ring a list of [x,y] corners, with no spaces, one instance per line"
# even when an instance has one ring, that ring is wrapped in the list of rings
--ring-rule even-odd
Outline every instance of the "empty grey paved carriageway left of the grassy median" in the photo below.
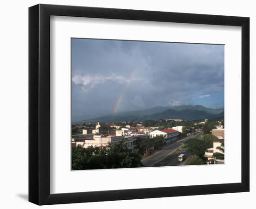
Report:
[[[201,134],[201,133],[200,133]],[[141,160],[141,163],[143,163],[146,167],[152,167],[153,165],[155,165],[155,163],[158,163],[159,161],[161,161],[163,158],[167,157],[169,154],[171,154],[171,152],[173,152],[175,149],[177,149],[179,146],[181,146],[182,144],[184,144],[184,142],[186,140],[188,140],[189,138],[193,138],[193,137],[197,137],[200,134],[196,134],[196,135],[191,135],[189,137],[183,138],[173,144],[169,144],[167,145],[165,148],[163,148],[162,150],[159,150],[157,152],[155,152],[154,154],[145,157]]]

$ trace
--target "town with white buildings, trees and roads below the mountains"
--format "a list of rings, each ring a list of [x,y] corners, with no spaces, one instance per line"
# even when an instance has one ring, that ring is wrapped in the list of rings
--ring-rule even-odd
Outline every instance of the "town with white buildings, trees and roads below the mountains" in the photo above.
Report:
[[[224,163],[224,119],[72,124],[72,170]]]

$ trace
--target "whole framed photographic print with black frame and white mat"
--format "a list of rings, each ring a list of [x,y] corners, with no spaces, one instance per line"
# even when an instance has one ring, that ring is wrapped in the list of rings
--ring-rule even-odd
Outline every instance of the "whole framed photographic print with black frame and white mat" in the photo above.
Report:
[[[29,8],[29,201],[249,191],[249,18]]]

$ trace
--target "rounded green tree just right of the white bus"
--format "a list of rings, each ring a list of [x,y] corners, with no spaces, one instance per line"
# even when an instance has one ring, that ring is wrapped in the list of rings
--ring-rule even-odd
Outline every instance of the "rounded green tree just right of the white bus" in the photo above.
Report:
[[[205,150],[211,147],[209,142],[197,139],[197,138],[190,138],[185,142],[185,149],[194,155],[194,157],[200,157],[203,159]]]

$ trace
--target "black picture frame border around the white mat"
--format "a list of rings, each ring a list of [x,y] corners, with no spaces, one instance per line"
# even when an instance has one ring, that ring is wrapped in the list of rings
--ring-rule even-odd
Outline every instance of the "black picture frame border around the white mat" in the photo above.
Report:
[[[241,183],[50,194],[50,16],[242,26]],[[38,205],[249,191],[249,18],[39,4],[29,8],[29,202]]]

